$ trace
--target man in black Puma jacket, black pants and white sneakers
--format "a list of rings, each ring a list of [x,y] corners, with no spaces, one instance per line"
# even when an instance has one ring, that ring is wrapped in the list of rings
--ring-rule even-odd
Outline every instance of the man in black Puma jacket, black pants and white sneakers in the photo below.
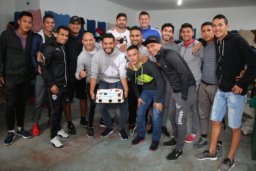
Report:
[[[64,100],[67,94],[67,54],[64,44],[66,43],[69,31],[67,26],[59,26],[57,29],[56,41],[50,41],[43,50],[45,65],[41,63],[41,73],[47,86],[49,98],[49,111],[51,113],[51,144],[55,147],[62,147],[59,136],[68,136],[60,128],[61,116],[64,109]],[[65,136],[63,136],[63,134]]]

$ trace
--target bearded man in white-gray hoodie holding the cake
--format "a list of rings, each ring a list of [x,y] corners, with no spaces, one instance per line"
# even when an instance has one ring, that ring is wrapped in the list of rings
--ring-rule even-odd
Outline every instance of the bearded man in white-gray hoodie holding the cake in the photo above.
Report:
[[[91,62],[91,87],[90,94],[94,100],[94,88],[97,77],[99,76],[99,89],[122,89],[124,96],[128,96],[128,85],[126,76],[126,59],[125,54],[122,53],[115,45],[115,37],[111,33],[105,33],[102,36],[102,47],[93,55]],[[99,104],[101,117],[104,124],[107,126],[105,131],[101,133],[101,137],[107,137],[113,133],[111,117],[109,115],[109,106],[111,103]],[[125,132],[125,125],[127,124],[128,116],[128,100],[125,103],[119,104],[120,118],[119,118],[119,135],[122,140],[128,140],[128,135]]]

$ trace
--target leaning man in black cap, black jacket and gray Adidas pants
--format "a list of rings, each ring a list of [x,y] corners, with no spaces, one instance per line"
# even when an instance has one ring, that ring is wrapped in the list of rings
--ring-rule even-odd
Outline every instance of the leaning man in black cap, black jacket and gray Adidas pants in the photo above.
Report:
[[[174,161],[183,155],[182,148],[187,134],[187,114],[195,102],[196,81],[181,55],[171,49],[163,49],[157,36],[147,37],[142,45],[146,46],[148,52],[157,59],[172,83],[173,94],[169,102],[169,120],[174,139],[163,143],[163,146],[175,146],[166,158],[168,161]]]

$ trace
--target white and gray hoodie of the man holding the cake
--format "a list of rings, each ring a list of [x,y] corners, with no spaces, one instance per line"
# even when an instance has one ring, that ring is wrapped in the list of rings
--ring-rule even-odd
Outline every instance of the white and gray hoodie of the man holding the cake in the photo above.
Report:
[[[103,49],[93,55],[91,62],[91,78],[115,83],[121,81],[126,76],[125,54],[117,47],[114,47],[113,53],[107,55]]]

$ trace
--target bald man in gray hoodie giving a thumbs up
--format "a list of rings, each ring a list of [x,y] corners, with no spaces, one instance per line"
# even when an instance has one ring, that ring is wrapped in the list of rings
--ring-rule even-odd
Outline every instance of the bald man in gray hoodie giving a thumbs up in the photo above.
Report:
[[[102,49],[101,45],[95,42],[95,39],[92,33],[85,33],[83,35],[82,42],[84,44],[83,51],[77,57],[77,71],[75,73],[75,77],[78,80],[86,77],[86,94],[88,98],[88,107],[87,107],[87,119],[88,119],[88,131],[87,136],[90,138],[94,137],[93,133],[93,118],[94,118],[94,110],[96,104],[91,99],[90,95],[90,79],[91,79],[91,61],[93,59],[93,55]],[[84,71],[85,70],[85,71]],[[99,89],[99,77],[96,81],[96,86],[94,88],[94,92]]]

